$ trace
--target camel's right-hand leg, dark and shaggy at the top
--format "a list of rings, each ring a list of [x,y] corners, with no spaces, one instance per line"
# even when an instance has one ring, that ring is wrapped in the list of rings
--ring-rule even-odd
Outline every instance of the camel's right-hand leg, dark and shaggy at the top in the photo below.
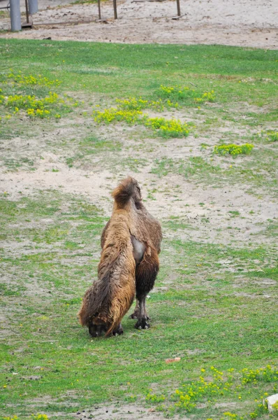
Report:
[[[142,262],[136,267],[136,309],[131,318],[138,318],[135,328],[149,328],[149,317],[146,311],[146,297],[154,287],[156,275],[159,272],[159,255],[152,248],[151,255],[144,255]]]

